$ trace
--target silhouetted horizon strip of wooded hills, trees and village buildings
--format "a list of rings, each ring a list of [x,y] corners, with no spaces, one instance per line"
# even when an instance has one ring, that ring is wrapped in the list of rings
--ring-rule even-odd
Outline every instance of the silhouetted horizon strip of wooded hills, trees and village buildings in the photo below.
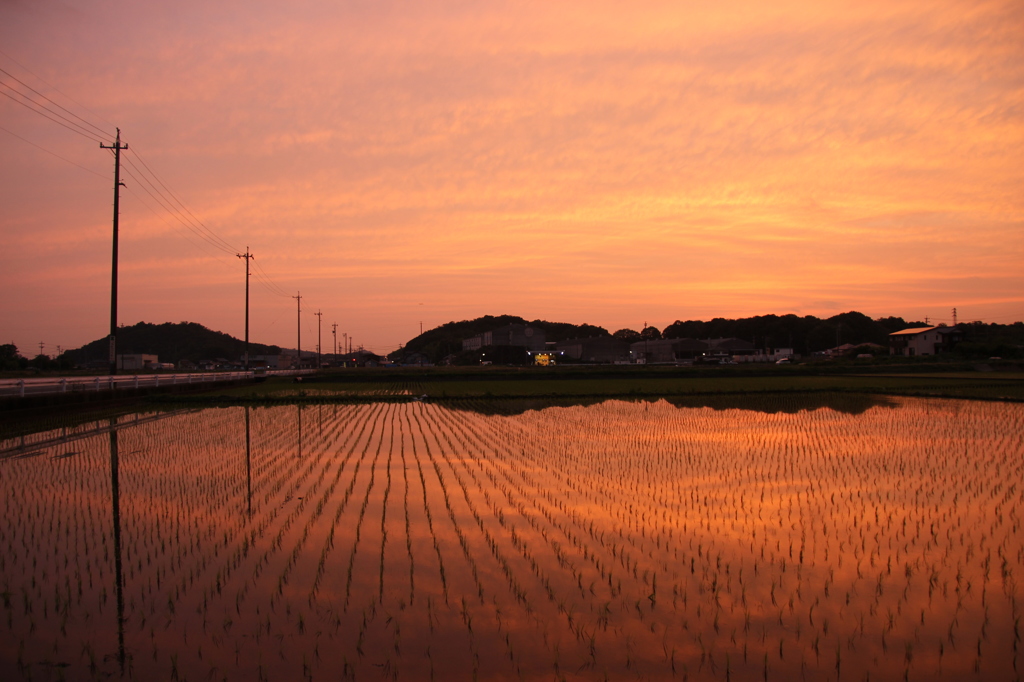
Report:
[[[732,335],[728,335],[730,331]],[[707,336],[698,337],[700,333]],[[829,344],[829,340],[835,343]],[[847,342],[841,342],[844,340]],[[102,370],[109,368],[106,346],[102,338],[54,358],[40,354],[28,359],[8,344],[2,347],[0,361],[4,370]],[[117,367],[122,372],[239,370],[246,367],[244,348],[243,341],[195,323],[138,323],[119,333],[122,352],[117,355]],[[624,329],[609,334],[592,325],[484,315],[421,332],[387,355],[357,346],[349,346],[346,351],[334,343],[329,346],[331,352],[303,349],[301,354],[293,348],[253,343],[249,346],[248,367],[309,370],[445,365],[785,365],[839,357],[922,357],[954,349],[964,356],[1020,356],[1024,354],[1024,325],[928,325],[927,321],[906,323],[899,317],[871,319],[851,311],[828,319],[795,315],[715,318],[676,322],[664,331],[645,326],[640,332]]]

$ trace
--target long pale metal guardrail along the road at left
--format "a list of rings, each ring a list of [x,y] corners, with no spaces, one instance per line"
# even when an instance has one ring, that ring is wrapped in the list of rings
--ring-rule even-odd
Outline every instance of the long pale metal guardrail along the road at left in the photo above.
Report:
[[[269,370],[265,376],[291,377],[312,374],[315,370]],[[38,377],[0,380],[0,396],[49,395],[52,393],[81,393],[86,391],[113,391],[126,388],[151,388],[182,384],[206,384],[220,381],[244,381],[256,376],[255,372],[197,372],[189,374],[132,374],[101,377]]]

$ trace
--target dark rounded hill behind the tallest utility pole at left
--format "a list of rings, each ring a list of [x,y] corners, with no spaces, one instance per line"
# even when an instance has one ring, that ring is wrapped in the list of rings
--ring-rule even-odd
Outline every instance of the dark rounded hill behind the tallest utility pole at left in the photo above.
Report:
[[[158,355],[161,363],[178,363],[188,359],[198,363],[204,359],[223,357],[234,360],[245,352],[245,341],[222,332],[214,332],[197,323],[164,323],[151,325],[138,323],[132,327],[118,329],[118,353],[148,353]],[[108,360],[109,341],[106,337],[87,343],[81,348],[69,350],[68,356],[76,365],[103,363]],[[250,355],[278,355],[279,346],[249,343]]]

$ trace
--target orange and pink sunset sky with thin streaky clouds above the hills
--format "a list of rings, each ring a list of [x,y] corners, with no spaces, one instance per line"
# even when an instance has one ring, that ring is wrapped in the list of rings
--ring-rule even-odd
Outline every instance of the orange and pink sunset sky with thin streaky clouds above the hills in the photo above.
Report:
[[[310,350],[317,309],[378,352],[481,314],[1024,319],[1019,0],[0,0],[0,69],[30,356],[108,333],[116,126],[125,325],[243,336],[247,245],[252,340],[294,347],[301,291]]]

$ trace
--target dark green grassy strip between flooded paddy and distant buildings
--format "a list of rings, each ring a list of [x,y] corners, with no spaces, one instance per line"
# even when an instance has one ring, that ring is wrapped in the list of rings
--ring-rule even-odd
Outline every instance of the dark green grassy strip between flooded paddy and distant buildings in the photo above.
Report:
[[[962,368],[953,368],[962,370]],[[1024,400],[1022,372],[809,373],[797,368],[558,368],[335,370],[302,382],[271,378],[187,401],[348,401],[426,395],[431,400],[676,397],[850,392]]]

